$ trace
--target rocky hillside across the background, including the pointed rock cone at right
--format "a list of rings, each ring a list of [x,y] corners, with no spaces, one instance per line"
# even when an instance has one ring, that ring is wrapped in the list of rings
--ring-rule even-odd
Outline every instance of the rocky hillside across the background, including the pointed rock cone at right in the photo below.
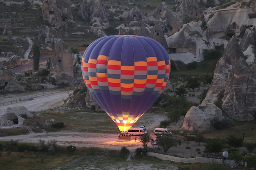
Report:
[[[0,0],[0,58],[12,63],[0,65],[0,88],[20,89],[6,68],[29,59],[31,43],[40,44],[41,55],[53,55],[49,80],[56,85],[81,82],[80,57],[72,49],[83,51],[105,35],[151,37],[174,64],[202,62],[205,50],[223,49],[206,98],[182,126],[211,130],[216,117],[255,118],[255,26],[256,0]]]

